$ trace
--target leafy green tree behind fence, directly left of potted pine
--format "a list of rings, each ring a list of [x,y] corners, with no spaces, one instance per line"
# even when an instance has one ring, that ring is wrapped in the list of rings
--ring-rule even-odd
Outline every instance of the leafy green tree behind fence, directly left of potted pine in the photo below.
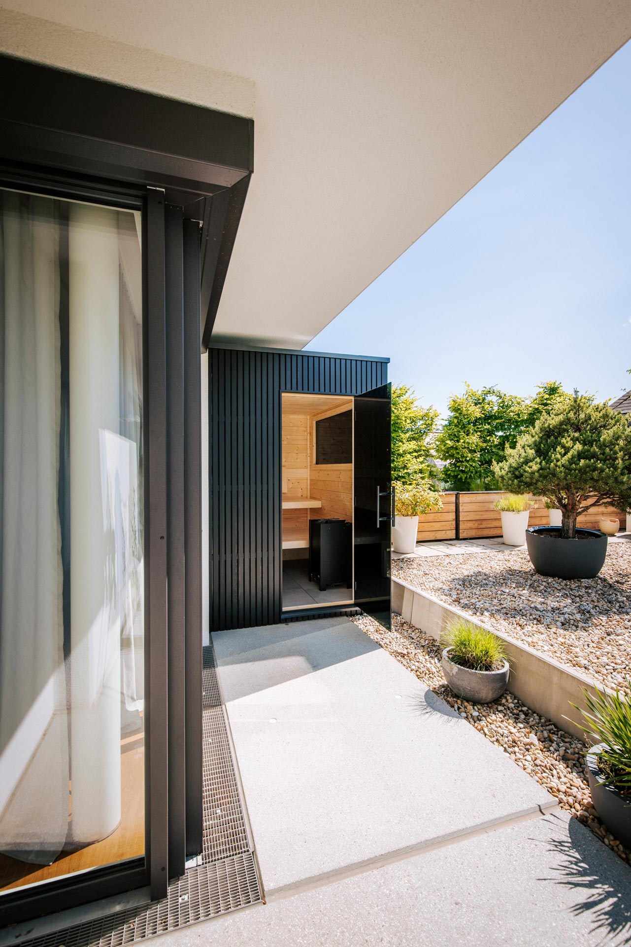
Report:
[[[509,395],[496,385],[472,388],[449,400],[449,415],[436,438],[436,454],[446,461],[443,472],[455,490],[494,490],[493,464],[507,447],[552,406],[569,395],[558,382],[537,386],[533,398]]]

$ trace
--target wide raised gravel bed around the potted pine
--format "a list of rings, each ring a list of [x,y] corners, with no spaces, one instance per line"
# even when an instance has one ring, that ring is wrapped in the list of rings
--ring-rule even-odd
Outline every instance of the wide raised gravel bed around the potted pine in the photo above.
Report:
[[[392,574],[597,684],[628,687],[631,543],[609,544],[596,579],[539,576],[523,548],[399,559]]]

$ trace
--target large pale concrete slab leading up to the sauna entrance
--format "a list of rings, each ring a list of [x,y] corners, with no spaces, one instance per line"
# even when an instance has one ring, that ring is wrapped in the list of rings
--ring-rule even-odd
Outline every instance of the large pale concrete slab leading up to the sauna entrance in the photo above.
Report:
[[[555,805],[346,618],[213,641],[268,896]]]

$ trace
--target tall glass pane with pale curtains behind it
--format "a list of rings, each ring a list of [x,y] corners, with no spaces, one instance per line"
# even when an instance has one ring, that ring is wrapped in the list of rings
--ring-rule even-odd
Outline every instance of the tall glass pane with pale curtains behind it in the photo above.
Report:
[[[139,233],[0,191],[0,891],[145,850]]]

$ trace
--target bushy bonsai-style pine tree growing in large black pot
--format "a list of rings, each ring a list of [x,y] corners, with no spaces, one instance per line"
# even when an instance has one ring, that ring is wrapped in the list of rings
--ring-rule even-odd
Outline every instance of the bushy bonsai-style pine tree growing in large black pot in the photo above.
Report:
[[[507,448],[494,471],[503,490],[551,498],[562,513],[561,536],[573,539],[588,509],[631,506],[631,424],[575,391]]]

